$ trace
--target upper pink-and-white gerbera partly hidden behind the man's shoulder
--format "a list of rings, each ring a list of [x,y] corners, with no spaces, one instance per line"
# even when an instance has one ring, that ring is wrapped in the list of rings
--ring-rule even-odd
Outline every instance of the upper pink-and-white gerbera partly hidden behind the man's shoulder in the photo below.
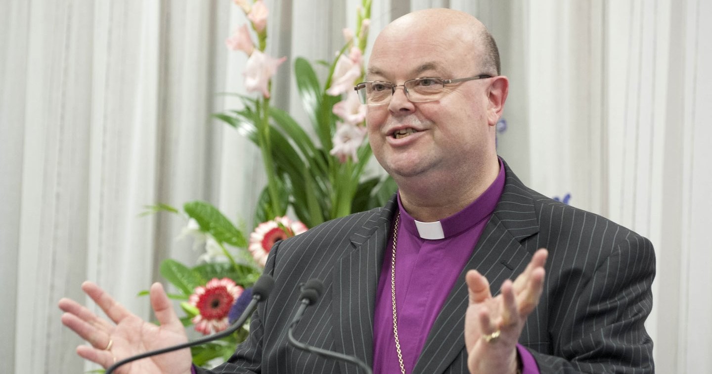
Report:
[[[292,221],[286,216],[275,217],[272,221],[259,224],[250,234],[250,252],[258,264],[265,266],[267,255],[277,241],[305,231],[307,231],[307,227],[302,222]]]

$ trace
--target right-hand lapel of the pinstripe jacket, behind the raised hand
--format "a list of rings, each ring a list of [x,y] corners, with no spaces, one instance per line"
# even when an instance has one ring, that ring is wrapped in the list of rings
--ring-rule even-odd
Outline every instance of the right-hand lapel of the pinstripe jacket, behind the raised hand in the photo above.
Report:
[[[413,373],[443,373],[451,363],[464,354],[465,312],[468,291],[465,274],[476,269],[490,281],[497,294],[505,279],[514,279],[529,263],[532,254],[520,244],[539,230],[533,201],[505,163],[506,183],[491,219],[455,286],[446,298],[426,339]],[[466,365],[466,364],[464,364]]]

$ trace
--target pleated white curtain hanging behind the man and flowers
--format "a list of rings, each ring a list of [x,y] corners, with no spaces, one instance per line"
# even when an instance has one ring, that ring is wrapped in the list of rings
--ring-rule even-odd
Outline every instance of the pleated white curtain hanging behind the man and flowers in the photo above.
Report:
[[[492,31],[511,79],[499,153],[531,187],[651,239],[648,328],[660,373],[712,372],[712,4],[701,0],[374,1],[372,37],[445,6]],[[267,1],[268,51],[288,56],[273,103],[307,123],[291,66],[330,59],[358,0]],[[229,0],[0,2],[1,373],[93,368],[59,322],[97,281],[149,317],[137,291],[184,224],[143,206],[192,199],[251,226],[263,184],[253,145],[210,114],[236,108],[246,58],[224,39]]]

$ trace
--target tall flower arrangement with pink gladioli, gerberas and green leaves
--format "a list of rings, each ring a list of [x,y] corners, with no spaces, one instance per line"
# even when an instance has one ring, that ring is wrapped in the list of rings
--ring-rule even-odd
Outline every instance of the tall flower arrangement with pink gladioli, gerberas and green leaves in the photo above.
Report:
[[[334,61],[318,64],[325,69],[324,83],[309,61],[294,61],[298,92],[315,140],[286,111],[270,103],[271,77],[286,58],[273,58],[265,52],[267,6],[263,0],[234,2],[250,25],[236,28],[226,46],[247,54],[244,84],[256,97],[240,95],[243,108],[214,116],[246,135],[261,151],[267,185],[254,214],[256,229],[246,239],[245,230],[207,202],[187,202],[182,212],[167,204],[148,207],[150,213],[182,215],[187,223],[181,237],[192,237],[194,247],[204,249],[197,266],[173,259],[160,266],[162,276],[178,290],[169,296],[180,301],[186,313],[184,325],[203,334],[224,330],[244,311],[251,298],[250,287],[276,241],[328,219],[379,207],[396,189],[390,177],[364,177],[372,152],[364,141],[365,106],[352,89],[364,77],[371,0],[362,0],[359,6],[356,31],[344,29],[345,45]],[[288,218],[288,211],[298,219]],[[192,348],[194,363],[226,360],[246,336],[246,328],[242,328],[232,336]]]

